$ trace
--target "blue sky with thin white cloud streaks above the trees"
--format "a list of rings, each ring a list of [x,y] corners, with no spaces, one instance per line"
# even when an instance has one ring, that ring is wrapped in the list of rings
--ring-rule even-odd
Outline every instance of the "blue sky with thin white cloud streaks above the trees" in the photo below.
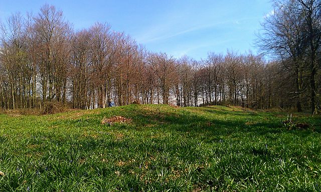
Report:
[[[149,51],[196,60],[228,50],[257,53],[260,23],[273,13],[270,0],[0,0],[0,20],[17,12],[38,14],[45,4],[61,10],[75,30],[107,23]]]

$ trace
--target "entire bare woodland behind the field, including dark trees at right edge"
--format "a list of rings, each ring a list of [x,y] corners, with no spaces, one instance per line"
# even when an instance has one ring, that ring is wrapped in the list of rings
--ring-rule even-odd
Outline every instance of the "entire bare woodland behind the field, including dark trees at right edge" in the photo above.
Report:
[[[54,6],[13,14],[0,24],[0,108],[57,102],[93,109],[111,99],[116,106],[235,105],[316,114],[320,14],[321,1],[275,1],[257,35],[261,54],[209,52],[200,61],[150,52],[107,23],[74,30]]]

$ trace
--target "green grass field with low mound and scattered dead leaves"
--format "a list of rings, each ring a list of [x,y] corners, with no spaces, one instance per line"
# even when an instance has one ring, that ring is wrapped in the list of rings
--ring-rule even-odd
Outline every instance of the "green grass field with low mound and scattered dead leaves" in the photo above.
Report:
[[[321,117],[286,119],[168,105],[0,114],[0,191],[321,191]]]

